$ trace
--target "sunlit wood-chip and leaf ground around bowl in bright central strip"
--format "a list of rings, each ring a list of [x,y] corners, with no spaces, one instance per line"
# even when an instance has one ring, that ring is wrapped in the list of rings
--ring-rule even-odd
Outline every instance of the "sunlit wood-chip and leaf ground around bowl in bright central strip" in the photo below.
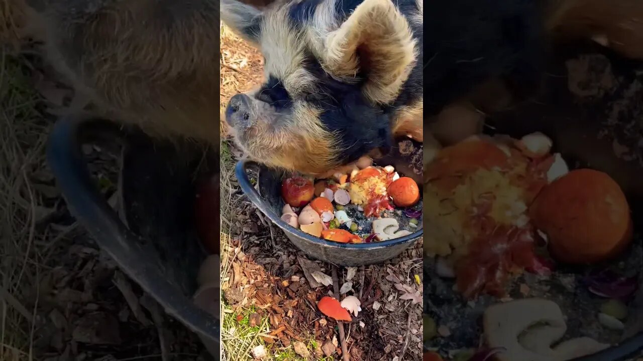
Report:
[[[221,54],[223,107],[260,82],[262,58],[226,28]],[[262,350],[264,360],[341,360],[337,322],[316,307],[333,292],[332,265],[306,258],[244,197],[232,171],[241,154],[230,141],[221,149],[222,360]],[[383,265],[336,272],[340,293],[361,300],[344,324],[349,359],[421,360],[422,243]]]

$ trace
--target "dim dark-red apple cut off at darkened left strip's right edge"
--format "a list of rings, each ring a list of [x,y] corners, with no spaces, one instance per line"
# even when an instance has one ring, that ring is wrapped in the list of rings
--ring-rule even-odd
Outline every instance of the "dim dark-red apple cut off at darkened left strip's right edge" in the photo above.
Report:
[[[197,184],[194,202],[194,216],[197,233],[204,247],[213,254],[219,254],[219,178],[211,177]]]

